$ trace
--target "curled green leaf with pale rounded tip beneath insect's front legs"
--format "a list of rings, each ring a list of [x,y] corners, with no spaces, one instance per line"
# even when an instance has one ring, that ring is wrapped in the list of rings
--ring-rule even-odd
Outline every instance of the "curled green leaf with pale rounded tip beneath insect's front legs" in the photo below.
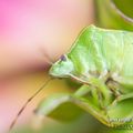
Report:
[[[91,113],[103,123],[108,119],[99,104],[95,103],[93,96],[86,99],[75,96],[74,94],[60,93],[43,100],[37,108],[35,115],[49,116],[58,121],[69,122],[78,119],[84,112]]]

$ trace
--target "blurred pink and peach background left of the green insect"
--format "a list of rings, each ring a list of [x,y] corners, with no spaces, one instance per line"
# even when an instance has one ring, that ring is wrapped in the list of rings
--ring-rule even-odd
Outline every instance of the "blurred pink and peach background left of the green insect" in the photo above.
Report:
[[[90,23],[93,0],[0,0],[0,132],[48,78],[42,71],[49,65],[43,53],[55,61]],[[57,83],[62,88],[55,89]],[[63,82],[53,84],[34,100],[19,123],[29,120],[41,98],[68,91]]]

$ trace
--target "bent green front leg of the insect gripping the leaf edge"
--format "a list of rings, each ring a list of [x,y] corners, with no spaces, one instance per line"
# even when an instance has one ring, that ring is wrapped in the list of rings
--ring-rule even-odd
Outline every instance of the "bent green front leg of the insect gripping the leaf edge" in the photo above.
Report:
[[[111,126],[110,116],[108,115],[106,105],[104,104],[104,99],[102,96],[102,92],[100,91],[100,89],[96,89],[96,88],[90,86],[90,85],[82,85],[74,93],[74,95],[84,98],[85,100],[89,100],[89,106],[90,106],[89,109],[92,114],[94,112],[96,112],[96,110],[91,106],[93,106],[96,103],[95,106],[102,112],[102,115],[100,117],[98,115],[96,117],[104,121],[104,123],[106,123],[109,126]],[[93,101],[95,101],[95,102],[93,103]],[[99,113],[99,111],[98,111],[98,113]]]

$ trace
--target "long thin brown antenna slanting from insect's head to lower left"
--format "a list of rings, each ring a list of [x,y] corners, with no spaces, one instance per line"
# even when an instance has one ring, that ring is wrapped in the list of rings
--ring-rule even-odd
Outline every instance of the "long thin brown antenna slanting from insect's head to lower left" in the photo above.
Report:
[[[23,104],[23,106],[20,109],[20,111],[18,112],[17,116],[14,117],[14,120],[12,121],[10,127],[9,127],[9,132],[11,132],[11,130],[13,129],[14,124],[17,123],[19,116],[22,114],[22,112],[24,111],[24,109],[27,108],[27,105],[48,85],[48,83],[52,80],[52,78],[49,78],[44,84],[39,88],[28,100],[27,102]]]

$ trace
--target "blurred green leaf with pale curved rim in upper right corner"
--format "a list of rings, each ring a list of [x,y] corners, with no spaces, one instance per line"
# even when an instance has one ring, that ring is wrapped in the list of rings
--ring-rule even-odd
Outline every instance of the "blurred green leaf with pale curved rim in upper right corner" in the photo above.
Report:
[[[133,31],[132,0],[94,0],[96,24],[102,28]]]

